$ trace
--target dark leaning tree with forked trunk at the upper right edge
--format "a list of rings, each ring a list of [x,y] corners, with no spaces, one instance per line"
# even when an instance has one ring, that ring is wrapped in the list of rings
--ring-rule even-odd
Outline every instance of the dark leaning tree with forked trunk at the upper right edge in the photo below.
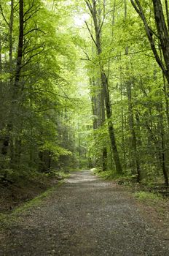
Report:
[[[146,35],[149,39],[150,46],[152,48],[152,52],[154,53],[154,58],[157,61],[160,69],[162,70],[163,75],[169,84],[169,34],[168,34],[168,1],[165,1],[165,7],[162,6],[162,2],[160,0],[152,0],[154,18],[153,22],[156,26],[157,31],[154,31],[154,28],[148,23],[146,14],[144,11],[144,5],[141,4],[138,0],[131,0],[131,4],[133,5],[136,12],[140,16],[141,20],[144,23],[144,28],[146,30]],[[152,6],[149,7],[150,9]],[[164,13],[165,10],[165,13]],[[166,14],[166,19],[165,19]],[[168,117],[168,89],[166,90],[165,80],[164,80],[164,91],[165,91],[165,101],[166,101],[166,113]],[[161,112],[161,111],[160,111]],[[161,114],[160,114],[161,116]],[[162,139],[162,172],[165,177],[165,184],[168,186],[168,170],[166,168],[165,161],[165,153],[164,153],[164,141],[163,141],[163,129],[161,127],[161,139]]]

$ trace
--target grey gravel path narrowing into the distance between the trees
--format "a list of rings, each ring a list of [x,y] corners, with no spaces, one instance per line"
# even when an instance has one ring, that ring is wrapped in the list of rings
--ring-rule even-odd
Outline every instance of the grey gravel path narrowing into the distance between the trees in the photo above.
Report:
[[[0,233],[1,256],[168,256],[168,222],[122,186],[72,173]]]

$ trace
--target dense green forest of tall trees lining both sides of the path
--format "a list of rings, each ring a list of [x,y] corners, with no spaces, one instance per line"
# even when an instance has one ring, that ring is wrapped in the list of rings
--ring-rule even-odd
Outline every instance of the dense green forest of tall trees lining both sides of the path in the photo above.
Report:
[[[95,168],[168,187],[168,0],[0,0],[1,186]]]

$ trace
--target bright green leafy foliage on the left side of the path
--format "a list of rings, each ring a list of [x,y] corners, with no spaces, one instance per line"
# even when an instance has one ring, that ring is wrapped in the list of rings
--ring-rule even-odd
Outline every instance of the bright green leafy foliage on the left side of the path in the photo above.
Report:
[[[76,158],[72,139],[75,131],[71,127],[72,118],[67,118],[79,108],[78,102],[75,105],[71,99],[76,91],[76,81],[71,82],[75,78],[76,39],[66,29],[68,20],[64,20],[63,15],[68,15],[68,10],[64,1],[60,1],[60,5],[52,1],[25,1],[23,67],[15,89],[20,14],[19,8],[13,10],[11,32],[6,21],[12,5],[7,3],[1,5],[3,16],[0,18],[0,31],[4,34],[4,37],[0,34],[0,54],[4,54],[0,63],[3,99],[0,159],[1,176],[17,182],[20,177],[51,173],[64,165],[72,167],[71,161]],[[10,69],[10,45],[5,39],[9,33],[12,33]],[[14,91],[17,91],[15,102]],[[60,164],[62,157],[66,160]]]

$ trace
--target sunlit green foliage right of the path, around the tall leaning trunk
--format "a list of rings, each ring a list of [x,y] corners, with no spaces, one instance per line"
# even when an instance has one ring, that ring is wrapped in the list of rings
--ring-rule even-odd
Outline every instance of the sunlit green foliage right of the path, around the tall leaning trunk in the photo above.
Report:
[[[100,1],[103,7],[103,1]],[[98,7],[96,4],[96,8]],[[115,6],[115,8],[114,8]],[[157,28],[154,22],[153,7],[148,1],[141,1],[149,26],[157,37]],[[162,5],[165,10],[165,5]],[[154,59],[146,37],[144,24],[127,2],[125,10],[124,1],[119,7],[114,1],[106,2],[106,11],[113,13],[106,15],[101,27],[102,53],[95,53],[95,43],[87,40],[86,51],[90,79],[99,79],[98,66],[101,64],[109,77],[109,93],[112,102],[112,118],[114,124],[117,148],[122,162],[124,176],[137,180],[138,169],[144,182],[162,182],[165,171],[168,176],[168,83]],[[124,15],[126,12],[126,16]],[[98,11],[103,18],[103,12]],[[113,17],[112,17],[113,16]],[[113,26],[112,26],[113,20]],[[91,20],[87,20],[88,25]],[[94,26],[90,25],[90,32]],[[95,34],[93,33],[93,37]],[[157,40],[155,39],[155,44]],[[89,46],[90,45],[90,46]],[[159,45],[157,45],[159,48]],[[161,53],[162,54],[162,53]],[[86,56],[84,57],[86,59]],[[97,96],[99,89],[91,88],[91,97]],[[94,131],[90,138],[90,154],[98,159],[99,165],[103,162],[102,150],[106,146],[107,159],[110,154],[109,136],[106,124]],[[134,141],[135,140],[135,141]],[[134,146],[135,145],[135,146]],[[162,146],[163,145],[163,146]],[[134,148],[135,147],[135,148]],[[164,160],[162,160],[164,159]],[[164,165],[162,167],[162,161]],[[96,164],[98,162],[96,161]],[[139,168],[138,168],[139,165]],[[163,169],[162,169],[163,168]],[[109,161],[107,170],[114,170],[114,162]],[[110,172],[111,173],[111,172]],[[103,176],[106,175],[103,172]],[[114,171],[107,176],[114,176]],[[165,184],[167,178],[165,178]],[[131,178],[132,180],[132,178]]]

